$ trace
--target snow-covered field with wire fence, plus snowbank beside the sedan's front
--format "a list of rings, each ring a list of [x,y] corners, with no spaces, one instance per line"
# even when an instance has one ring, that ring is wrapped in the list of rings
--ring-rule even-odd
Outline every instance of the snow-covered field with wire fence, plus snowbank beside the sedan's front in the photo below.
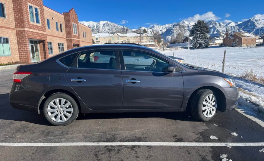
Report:
[[[264,47],[217,47],[212,46],[205,49],[182,49],[167,48],[159,51],[166,55],[184,57],[186,63],[196,65],[196,54],[198,54],[198,66],[222,72],[222,61],[225,56],[225,73],[233,76],[241,76],[246,70],[252,70],[258,77],[264,78]],[[264,85],[234,78],[240,89],[239,108],[248,115],[264,121]]]

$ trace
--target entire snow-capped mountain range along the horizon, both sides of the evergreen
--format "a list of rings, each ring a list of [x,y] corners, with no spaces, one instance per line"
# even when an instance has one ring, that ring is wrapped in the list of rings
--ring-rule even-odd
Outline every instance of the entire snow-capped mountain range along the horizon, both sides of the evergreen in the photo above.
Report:
[[[121,26],[109,21],[81,21],[80,23],[92,28],[92,33],[139,33],[139,29],[129,29],[126,26]],[[164,36],[165,41],[170,41],[172,38],[175,38],[179,32],[183,32],[185,36],[188,36],[190,30],[195,22],[187,22],[182,20],[179,23],[169,23],[165,25],[153,25],[146,29],[147,33],[150,34],[161,34]],[[225,33],[226,28],[229,32],[248,32],[255,35],[264,34],[264,20],[251,18],[244,22],[229,22],[222,23],[216,21],[208,21],[206,24],[209,26],[208,36],[215,33]],[[162,35],[163,33],[163,35]]]

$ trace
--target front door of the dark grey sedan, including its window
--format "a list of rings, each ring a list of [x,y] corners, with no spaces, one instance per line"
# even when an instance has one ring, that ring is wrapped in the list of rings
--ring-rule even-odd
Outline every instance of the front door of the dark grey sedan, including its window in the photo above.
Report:
[[[120,52],[137,52],[135,56],[141,56],[134,65],[124,57],[122,109],[181,108],[184,86],[179,67],[169,73],[166,72],[169,62],[157,55],[125,49]]]

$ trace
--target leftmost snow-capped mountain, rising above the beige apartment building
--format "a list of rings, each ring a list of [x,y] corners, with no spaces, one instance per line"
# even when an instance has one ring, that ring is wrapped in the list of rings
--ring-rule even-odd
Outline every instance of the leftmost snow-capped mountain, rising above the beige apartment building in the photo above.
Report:
[[[109,21],[80,21],[85,26],[92,29],[92,33],[128,33],[130,29],[126,26],[121,26]]]

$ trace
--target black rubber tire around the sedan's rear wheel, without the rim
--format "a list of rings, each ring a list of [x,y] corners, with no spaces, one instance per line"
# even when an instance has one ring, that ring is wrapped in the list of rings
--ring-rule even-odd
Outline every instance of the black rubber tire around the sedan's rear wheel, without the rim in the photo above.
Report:
[[[64,121],[64,122],[56,122],[54,120],[52,120],[50,117],[49,117],[49,114],[48,114],[48,105],[49,103],[56,99],[56,98],[63,98],[63,99],[66,99],[67,101],[69,101],[71,103],[71,106],[72,106],[72,115],[71,117]],[[44,103],[44,107],[43,107],[43,113],[44,113],[44,116],[46,117],[46,119],[53,125],[56,125],[56,126],[65,126],[65,125],[69,125],[70,123],[74,122],[74,120],[77,118],[78,114],[79,114],[79,108],[78,108],[78,105],[76,103],[76,101],[71,97],[69,96],[68,94],[65,94],[65,93],[54,93],[52,95],[50,95],[45,103]]]

